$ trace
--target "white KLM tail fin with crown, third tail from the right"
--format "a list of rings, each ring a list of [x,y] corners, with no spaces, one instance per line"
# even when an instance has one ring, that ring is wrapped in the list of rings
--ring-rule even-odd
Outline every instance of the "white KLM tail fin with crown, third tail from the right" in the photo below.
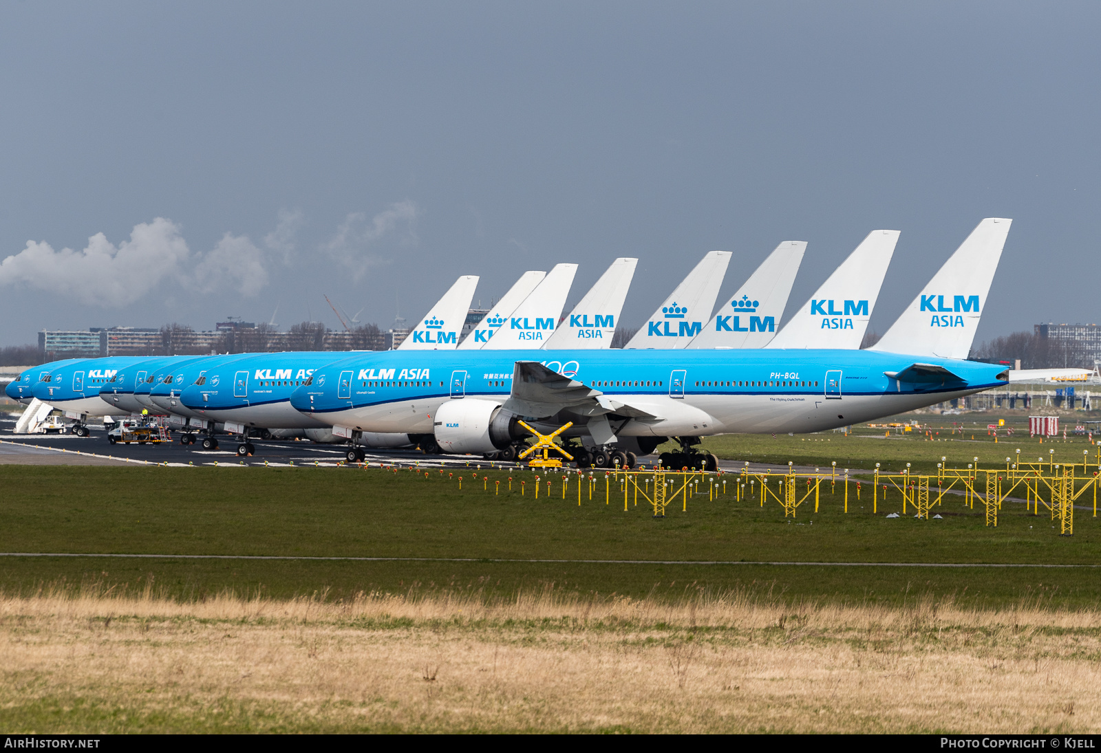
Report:
[[[784,241],[750,275],[734,296],[697,335],[689,348],[764,348],[776,326],[803,263],[806,241]]]

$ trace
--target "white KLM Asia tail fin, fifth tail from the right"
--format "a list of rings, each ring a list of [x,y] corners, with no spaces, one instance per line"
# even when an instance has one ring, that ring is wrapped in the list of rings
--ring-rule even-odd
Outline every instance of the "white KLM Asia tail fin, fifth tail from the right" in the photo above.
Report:
[[[631,290],[637,259],[620,258],[600,275],[581,302],[550,336],[544,350],[607,350],[612,347],[619,321]]]

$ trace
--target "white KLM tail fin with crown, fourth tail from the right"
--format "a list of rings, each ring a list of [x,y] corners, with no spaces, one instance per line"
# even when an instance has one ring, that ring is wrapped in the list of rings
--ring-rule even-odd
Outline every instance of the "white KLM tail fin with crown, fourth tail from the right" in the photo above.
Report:
[[[704,331],[704,323],[711,318],[728,264],[729,251],[709,251],[705,254],[696,269],[673,291],[673,295],[635,332],[626,347],[667,350],[684,348],[691,342],[693,338]]]

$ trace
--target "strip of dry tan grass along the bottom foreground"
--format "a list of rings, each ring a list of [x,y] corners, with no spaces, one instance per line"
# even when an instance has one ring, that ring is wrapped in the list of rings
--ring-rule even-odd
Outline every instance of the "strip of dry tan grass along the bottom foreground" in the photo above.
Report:
[[[0,597],[10,732],[1086,732],[1101,612],[951,599]]]

